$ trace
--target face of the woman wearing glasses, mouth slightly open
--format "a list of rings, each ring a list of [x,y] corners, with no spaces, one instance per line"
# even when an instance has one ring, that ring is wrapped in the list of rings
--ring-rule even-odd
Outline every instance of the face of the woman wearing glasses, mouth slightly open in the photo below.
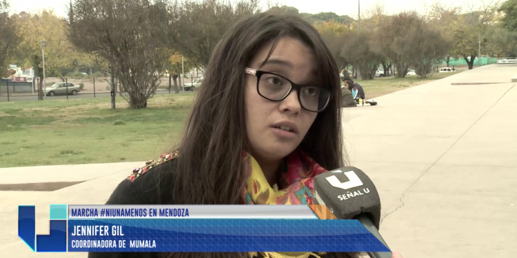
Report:
[[[250,68],[274,72],[299,85],[318,85],[314,65],[316,57],[310,47],[298,39],[281,39],[267,63],[261,67],[272,45],[273,43],[269,43],[259,50]],[[256,76],[247,74],[245,83],[246,126],[251,154],[263,161],[281,160],[298,147],[317,113],[301,107],[298,93],[294,89],[284,100],[271,101],[257,92]],[[285,129],[289,130],[286,127],[290,127],[292,131],[286,131]]]

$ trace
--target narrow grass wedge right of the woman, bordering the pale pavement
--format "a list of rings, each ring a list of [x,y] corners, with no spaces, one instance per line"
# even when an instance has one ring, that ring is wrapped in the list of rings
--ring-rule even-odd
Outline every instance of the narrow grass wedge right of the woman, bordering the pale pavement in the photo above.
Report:
[[[366,98],[370,99],[390,94],[401,89],[407,89],[416,85],[429,83],[432,80],[439,80],[454,74],[458,74],[458,72],[435,73],[431,77],[425,78],[423,80],[418,79],[418,76],[406,76],[406,78],[396,78],[391,76],[385,78],[375,78],[374,80],[355,81],[363,86],[363,89],[365,89]]]

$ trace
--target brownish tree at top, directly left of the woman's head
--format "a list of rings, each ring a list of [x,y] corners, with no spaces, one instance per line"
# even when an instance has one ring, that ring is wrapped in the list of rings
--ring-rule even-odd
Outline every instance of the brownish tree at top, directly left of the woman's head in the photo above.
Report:
[[[258,0],[239,0],[237,3],[219,0],[176,1],[169,12],[170,45],[190,58],[196,67],[205,68],[223,34],[236,21],[259,11]]]

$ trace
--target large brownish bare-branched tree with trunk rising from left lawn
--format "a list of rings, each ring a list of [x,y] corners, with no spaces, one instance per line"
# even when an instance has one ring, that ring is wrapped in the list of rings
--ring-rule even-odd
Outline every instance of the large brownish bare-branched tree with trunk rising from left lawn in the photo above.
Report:
[[[68,39],[83,52],[107,61],[120,95],[133,109],[147,107],[156,92],[169,51],[163,1],[77,0],[68,10]],[[112,78],[112,87],[115,87]]]

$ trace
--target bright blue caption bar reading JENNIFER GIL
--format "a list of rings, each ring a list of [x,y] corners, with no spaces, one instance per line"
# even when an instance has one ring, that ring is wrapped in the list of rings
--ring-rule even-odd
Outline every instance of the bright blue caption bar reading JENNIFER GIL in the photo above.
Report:
[[[356,220],[70,219],[68,252],[387,252]]]

